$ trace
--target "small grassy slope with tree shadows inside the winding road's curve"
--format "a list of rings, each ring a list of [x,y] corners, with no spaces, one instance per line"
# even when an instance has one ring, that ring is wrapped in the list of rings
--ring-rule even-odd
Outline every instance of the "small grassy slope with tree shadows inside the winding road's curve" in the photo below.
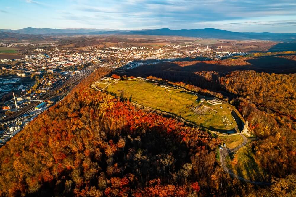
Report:
[[[235,154],[226,157],[226,165],[235,174],[253,181],[266,181],[268,175],[254,158],[248,146],[240,148]]]

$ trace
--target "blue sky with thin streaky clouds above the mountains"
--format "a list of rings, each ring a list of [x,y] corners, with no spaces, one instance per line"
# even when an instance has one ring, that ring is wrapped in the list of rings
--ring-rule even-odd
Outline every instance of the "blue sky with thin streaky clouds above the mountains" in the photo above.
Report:
[[[0,29],[26,27],[296,33],[296,0],[0,0]]]

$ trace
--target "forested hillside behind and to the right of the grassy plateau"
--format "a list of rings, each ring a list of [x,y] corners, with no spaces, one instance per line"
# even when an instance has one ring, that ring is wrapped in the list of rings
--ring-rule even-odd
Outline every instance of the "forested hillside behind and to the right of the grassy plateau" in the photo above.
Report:
[[[271,59],[268,55],[271,55]],[[279,181],[282,184],[273,184],[264,192],[266,195],[270,195],[269,192],[272,191],[275,196],[295,196],[295,187],[287,186],[292,191],[286,193],[283,186],[294,184],[296,173],[295,56],[277,57],[291,61],[289,69],[294,70],[291,73],[281,74],[287,71],[284,63],[281,65],[282,70],[276,70],[278,74],[261,71],[263,65],[267,70],[274,69],[274,63],[268,68],[268,62],[278,55],[282,56],[268,53],[256,54],[258,58],[253,57],[254,59],[243,57],[212,63],[170,62],[138,67],[126,74],[136,77],[144,75],[234,104],[244,119],[249,121],[250,130],[256,136],[247,145],[254,155],[253,162],[266,170],[268,174],[265,176],[269,177],[271,183]],[[262,62],[262,65],[258,68],[254,64],[240,64],[250,60]],[[229,62],[233,62],[233,65]],[[278,188],[274,189],[276,185]]]

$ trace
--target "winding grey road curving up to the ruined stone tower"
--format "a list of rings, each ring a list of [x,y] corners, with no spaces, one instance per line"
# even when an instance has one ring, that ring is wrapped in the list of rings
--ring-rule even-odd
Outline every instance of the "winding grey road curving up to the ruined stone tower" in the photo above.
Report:
[[[233,152],[237,152],[239,150],[239,148],[242,148],[243,146],[246,146],[246,144],[248,143],[248,139],[243,135],[243,134],[239,134],[240,136],[242,136],[243,138],[243,143],[240,144],[239,146],[233,148],[233,149],[229,149],[229,148],[224,148],[223,150],[219,149],[220,151],[220,162],[221,162],[221,167],[224,170],[224,172],[228,173],[231,177],[235,177],[241,181],[247,182],[247,183],[252,183],[252,184],[256,184],[256,185],[271,185],[271,183],[267,183],[267,182],[260,182],[260,181],[252,181],[252,180],[248,180],[245,179],[243,177],[240,177],[236,174],[234,174],[225,164],[225,158],[226,156],[228,156],[230,153]]]

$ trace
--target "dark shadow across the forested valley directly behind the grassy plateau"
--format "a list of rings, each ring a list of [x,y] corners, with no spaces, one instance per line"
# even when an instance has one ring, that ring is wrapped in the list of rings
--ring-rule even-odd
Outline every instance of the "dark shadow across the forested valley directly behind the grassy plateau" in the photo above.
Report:
[[[221,85],[220,77],[236,70],[255,70],[266,73],[296,73],[296,58],[294,54],[276,54],[247,59],[244,65],[225,66],[215,62],[193,62],[192,65],[179,65],[178,62],[162,62],[158,64],[142,65],[126,71],[126,74],[136,77],[154,76],[171,82],[183,82],[207,90],[222,93],[229,98],[234,97]],[[241,63],[241,62],[240,62]],[[200,92],[202,93],[202,92]],[[207,96],[209,92],[203,92]]]

